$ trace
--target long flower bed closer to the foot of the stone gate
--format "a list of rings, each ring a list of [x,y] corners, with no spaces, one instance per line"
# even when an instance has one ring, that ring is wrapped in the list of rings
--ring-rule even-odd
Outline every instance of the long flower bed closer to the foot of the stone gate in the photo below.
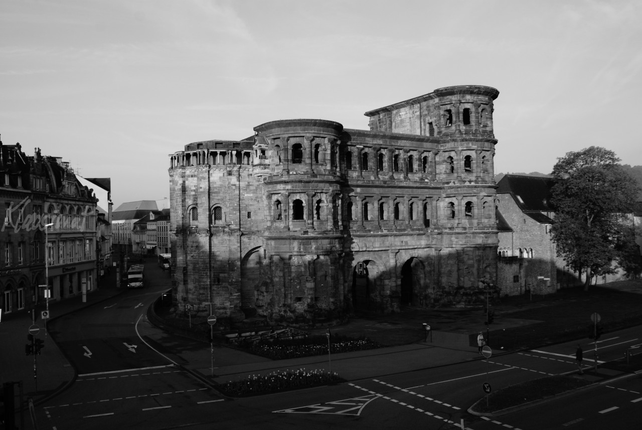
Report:
[[[332,354],[362,351],[384,346],[368,338],[352,339],[333,335],[330,339],[330,352]],[[257,356],[281,360],[327,354],[327,338],[325,336],[313,336],[305,339],[248,341],[247,343],[239,344],[239,347]]]

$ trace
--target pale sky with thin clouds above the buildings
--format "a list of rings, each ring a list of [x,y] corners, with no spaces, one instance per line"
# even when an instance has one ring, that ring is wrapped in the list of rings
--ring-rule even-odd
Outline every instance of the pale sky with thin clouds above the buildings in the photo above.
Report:
[[[487,85],[495,173],[603,146],[642,165],[642,2],[2,0],[0,135],[110,177],[114,207],[169,197],[190,142]]]

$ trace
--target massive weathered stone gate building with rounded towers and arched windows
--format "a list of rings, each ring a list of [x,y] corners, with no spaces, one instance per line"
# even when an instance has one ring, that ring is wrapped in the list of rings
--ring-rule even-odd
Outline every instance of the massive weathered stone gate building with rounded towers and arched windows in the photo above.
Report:
[[[370,130],[272,121],[170,155],[176,309],[304,322],[485,300],[498,94],[446,87],[366,112]]]

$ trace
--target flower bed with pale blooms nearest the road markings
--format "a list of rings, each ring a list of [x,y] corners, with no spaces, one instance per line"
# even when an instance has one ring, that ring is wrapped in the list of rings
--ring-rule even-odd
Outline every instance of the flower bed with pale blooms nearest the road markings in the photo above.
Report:
[[[311,386],[338,383],[343,379],[336,372],[325,370],[277,370],[266,375],[250,375],[240,381],[229,381],[218,389],[230,397],[245,397],[293,390]]]

